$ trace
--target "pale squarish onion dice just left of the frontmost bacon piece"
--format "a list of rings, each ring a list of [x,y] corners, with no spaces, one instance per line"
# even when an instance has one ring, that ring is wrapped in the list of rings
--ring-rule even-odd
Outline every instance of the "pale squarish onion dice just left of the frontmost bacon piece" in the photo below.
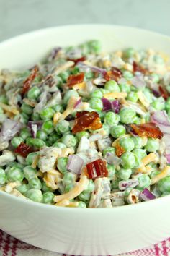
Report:
[[[74,174],[81,174],[81,168],[84,165],[84,160],[79,155],[69,155],[67,169]]]

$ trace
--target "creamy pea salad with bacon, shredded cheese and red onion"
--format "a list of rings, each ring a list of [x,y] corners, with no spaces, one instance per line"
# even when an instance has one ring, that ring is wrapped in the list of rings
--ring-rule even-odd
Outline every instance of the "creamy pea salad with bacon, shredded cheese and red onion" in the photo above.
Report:
[[[0,71],[0,190],[113,208],[170,194],[167,56],[98,40]]]

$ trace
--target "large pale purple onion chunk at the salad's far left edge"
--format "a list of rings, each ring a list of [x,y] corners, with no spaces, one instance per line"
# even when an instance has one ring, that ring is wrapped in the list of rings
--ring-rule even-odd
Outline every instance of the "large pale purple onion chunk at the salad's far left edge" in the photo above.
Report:
[[[14,121],[12,119],[5,119],[0,132],[0,140],[8,142],[14,135],[16,135],[22,128],[22,124],[19,121]]]

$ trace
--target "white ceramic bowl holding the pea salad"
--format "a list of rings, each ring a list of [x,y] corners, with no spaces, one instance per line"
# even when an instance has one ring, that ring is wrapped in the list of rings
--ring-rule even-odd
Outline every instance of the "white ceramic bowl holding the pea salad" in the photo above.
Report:
[[[170,38],[114,25],[68,25],[39,30],[0,44],[0,68],[30,67],[54,46],[89,39],[104,50],[133,46],[170,56]],[[170,197],[112,209],[56,208],[0,192],[0,229],[24,242],[74,255],[113,255],[165,239],[170,234]]]

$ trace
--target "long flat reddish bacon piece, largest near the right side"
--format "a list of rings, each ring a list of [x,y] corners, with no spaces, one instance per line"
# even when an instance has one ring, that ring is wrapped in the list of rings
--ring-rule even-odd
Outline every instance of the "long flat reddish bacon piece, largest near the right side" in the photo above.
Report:
[[[155,139],[161,139],[163,137],[163,133],[158,127],[156,127],[156,124],[131,124],[130,126],[134,129],[135,133],[137,133],[137,135],[140,137],[146,136]]]

